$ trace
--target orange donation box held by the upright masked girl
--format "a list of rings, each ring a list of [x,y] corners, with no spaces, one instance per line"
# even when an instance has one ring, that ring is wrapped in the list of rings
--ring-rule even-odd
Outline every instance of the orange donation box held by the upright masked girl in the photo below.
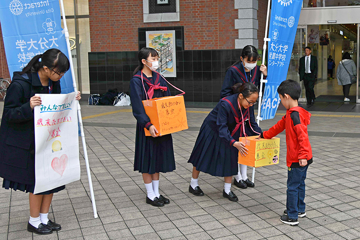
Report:
[[[170,96],[144,100],[144,109],[158,136],[188,129],[183,96]],[[151,136],[145,128],[145,136]]]

